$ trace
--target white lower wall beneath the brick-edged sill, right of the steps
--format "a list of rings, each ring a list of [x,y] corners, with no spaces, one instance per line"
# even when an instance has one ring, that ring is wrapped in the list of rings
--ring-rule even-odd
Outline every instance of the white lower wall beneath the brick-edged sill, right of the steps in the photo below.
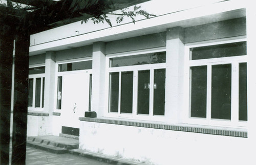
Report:
[[[83,121],[79,148],[153,164],[253,163],[247,138]]]

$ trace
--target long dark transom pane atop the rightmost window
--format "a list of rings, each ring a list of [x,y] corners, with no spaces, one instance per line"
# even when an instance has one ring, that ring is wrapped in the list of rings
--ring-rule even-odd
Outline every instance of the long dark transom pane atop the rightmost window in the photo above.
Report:
[[[246,55],[246,41],[192,48],[192,59],[208,59]]]

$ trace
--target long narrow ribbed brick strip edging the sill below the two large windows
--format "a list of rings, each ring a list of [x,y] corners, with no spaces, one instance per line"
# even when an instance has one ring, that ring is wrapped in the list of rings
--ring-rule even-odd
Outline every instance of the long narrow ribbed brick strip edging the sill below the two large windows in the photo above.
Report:
[[[212,128],[175,126],[175,125],[165,125],[165,124],[120,121],[120,120],[112,120],[112,119],[97,119],[97,118],[88,118],[88,117],[79,117],[79,120],[86,121],[86,122],[116,124],[116,125],[124,125],[124,126],[165,129],[165,130],[172,130],[172,131],[184,131],[184,132],[205,133],[205,134],[224,135],[224,136],[247,137],[246,131],[232,131],[232,130],[221,130],[221,129],[212,129]]]

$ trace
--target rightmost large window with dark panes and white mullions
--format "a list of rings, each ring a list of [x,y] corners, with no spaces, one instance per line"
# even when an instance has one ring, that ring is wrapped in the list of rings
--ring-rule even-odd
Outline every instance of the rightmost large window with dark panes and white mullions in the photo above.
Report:
[[[246,41],[189,52],[190,118],[247,121]]]

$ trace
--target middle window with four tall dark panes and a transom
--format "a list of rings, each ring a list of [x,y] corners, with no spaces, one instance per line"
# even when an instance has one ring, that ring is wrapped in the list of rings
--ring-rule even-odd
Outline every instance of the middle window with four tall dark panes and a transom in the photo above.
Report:
[[[110,58],[109,113],[164,116],[165,52]]]

